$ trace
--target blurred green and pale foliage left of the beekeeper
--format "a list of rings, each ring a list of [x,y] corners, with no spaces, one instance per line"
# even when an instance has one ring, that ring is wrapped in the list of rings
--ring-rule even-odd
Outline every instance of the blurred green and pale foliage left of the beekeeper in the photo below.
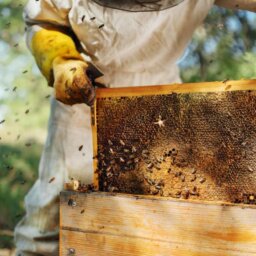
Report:
[[[27,49],[26,1],[0,0],[0,248],[24,215],[24,196],[37,178],[51,89]]]

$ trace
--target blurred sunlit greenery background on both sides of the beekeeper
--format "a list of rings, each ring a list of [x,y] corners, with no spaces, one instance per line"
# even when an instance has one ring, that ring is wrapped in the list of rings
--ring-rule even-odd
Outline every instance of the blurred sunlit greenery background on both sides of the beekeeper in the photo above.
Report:
[[[52,93],[25,45],[25,2],[0,0],[0,249],[13,248],[37,178]],[[213,8],[179,61],[183,80],[255,78],[255,38],[254,13]]]

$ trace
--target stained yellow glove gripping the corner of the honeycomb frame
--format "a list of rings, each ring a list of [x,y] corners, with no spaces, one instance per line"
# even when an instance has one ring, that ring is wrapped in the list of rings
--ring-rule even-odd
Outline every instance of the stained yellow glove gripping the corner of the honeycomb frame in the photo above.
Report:
[[[93,104],[95,92],[86,74],[88,65],[70,36],[41,29],[34,34],[31,49],[49,86],[54,87],[57,100],[70,105]]]

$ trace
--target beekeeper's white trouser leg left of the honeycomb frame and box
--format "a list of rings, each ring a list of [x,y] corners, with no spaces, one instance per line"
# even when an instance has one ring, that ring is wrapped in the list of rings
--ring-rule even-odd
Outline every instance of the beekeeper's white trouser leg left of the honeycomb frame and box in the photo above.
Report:
[[[58,255],[59,193],[69,178],[91,183],[92,174],[90,108],[52,99],[39,177],[25,198],[26,216],[15,228],[17,255]]]

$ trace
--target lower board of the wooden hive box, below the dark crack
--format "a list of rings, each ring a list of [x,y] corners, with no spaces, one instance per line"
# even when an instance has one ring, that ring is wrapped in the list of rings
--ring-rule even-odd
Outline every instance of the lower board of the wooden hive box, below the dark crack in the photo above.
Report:
[[[75,248],[78,256],[250,256],[254,253],[222,250],[218,247],[203,248],[164,241],[135,239],[105,234],[87,234],[63,230],[62,254],[68,255],[69,248]],[[121,241],[121,242],[120,242]]]

